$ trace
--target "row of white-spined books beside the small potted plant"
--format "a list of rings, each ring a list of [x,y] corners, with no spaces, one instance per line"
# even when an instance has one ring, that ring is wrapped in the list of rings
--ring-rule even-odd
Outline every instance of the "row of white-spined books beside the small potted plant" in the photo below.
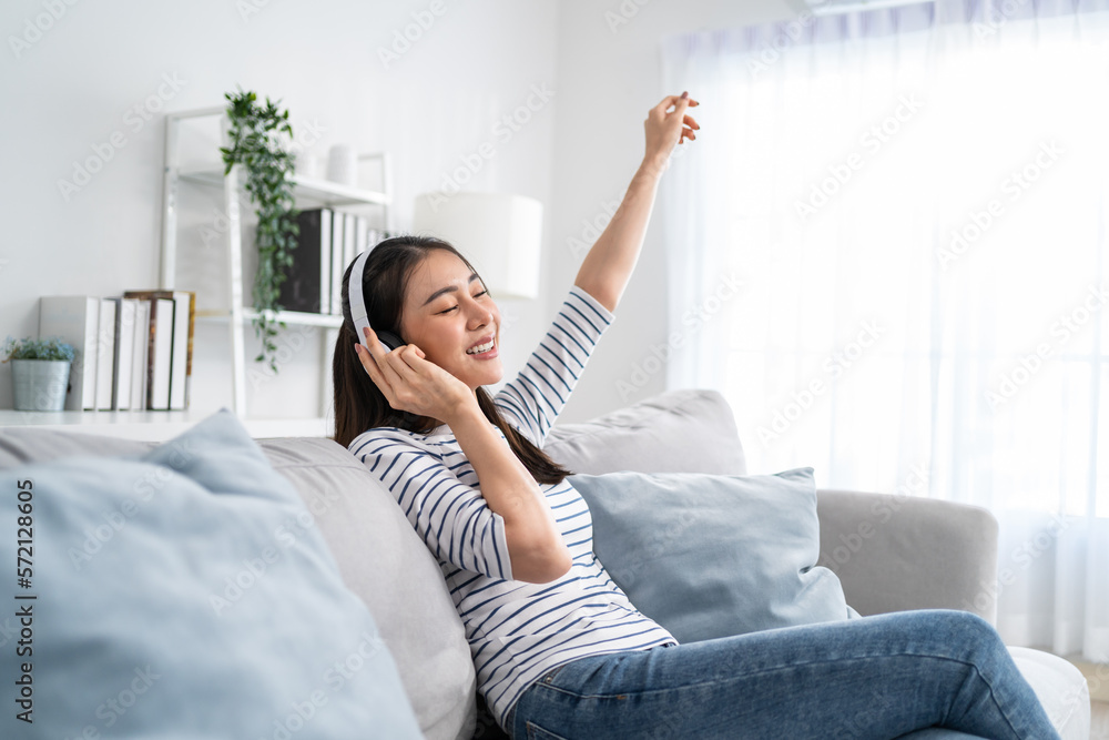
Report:
[[[67,410],[183,410],[192,379],[192,291],[43,296],[39,336],[75,349]]]

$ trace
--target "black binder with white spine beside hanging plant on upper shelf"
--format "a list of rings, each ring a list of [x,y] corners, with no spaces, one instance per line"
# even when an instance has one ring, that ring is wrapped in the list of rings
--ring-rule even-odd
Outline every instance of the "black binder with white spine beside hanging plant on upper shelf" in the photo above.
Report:
[[[301,211],[296,223],[301,234],[277,302],[286,311],[324,313],[330,304],[332,210]]]

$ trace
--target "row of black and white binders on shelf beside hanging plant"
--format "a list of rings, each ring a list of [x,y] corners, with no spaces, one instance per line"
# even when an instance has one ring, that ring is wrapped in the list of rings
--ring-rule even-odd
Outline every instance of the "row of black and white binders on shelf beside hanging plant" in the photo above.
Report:
[[[343,273],[389,234],[372,229],[364,216],[332,209],[301,211],[297,225],[301,235],[278,303],[285,311],[342,315]]]

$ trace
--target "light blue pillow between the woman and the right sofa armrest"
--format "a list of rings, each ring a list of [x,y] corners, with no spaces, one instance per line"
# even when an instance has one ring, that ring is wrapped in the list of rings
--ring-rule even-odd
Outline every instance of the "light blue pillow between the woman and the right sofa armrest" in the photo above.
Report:
[[[836,575],[816,566],[812,468],[567,479],[589,505],[609,576],[681,642],[858,616]]]

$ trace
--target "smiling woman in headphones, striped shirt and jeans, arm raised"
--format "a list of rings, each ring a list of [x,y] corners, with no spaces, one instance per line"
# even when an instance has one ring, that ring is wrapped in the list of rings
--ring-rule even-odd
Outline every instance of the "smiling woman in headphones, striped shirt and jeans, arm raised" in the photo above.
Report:
[[[895,738],[943,727],[1057,738],[994,629],[917,611],[678,645],[592,554],[589,510],[543,440],[612,321],[659,178],[700,129],[686,93],[644,122],[647,151],[520,374],[501,379],[500,313],[449,244],[377,245],[369,324],[335,351],[336,439],[393,491],[439,560],[478,689],[513,738]],[[673,110],[670,110],[673,109]],[[940,731],[948,737],[958,732]],[[930,737],[940,737],[934,734]]]

